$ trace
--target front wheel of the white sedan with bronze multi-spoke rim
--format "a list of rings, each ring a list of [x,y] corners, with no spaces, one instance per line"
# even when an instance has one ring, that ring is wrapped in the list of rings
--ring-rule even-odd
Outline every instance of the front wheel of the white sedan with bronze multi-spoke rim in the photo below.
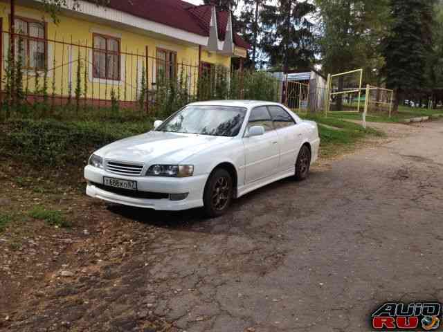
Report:
[[[233,200],[233,178],[223,168],[217,168],[206,182],[203,202],[206,216],[215,218],[226,213]]]

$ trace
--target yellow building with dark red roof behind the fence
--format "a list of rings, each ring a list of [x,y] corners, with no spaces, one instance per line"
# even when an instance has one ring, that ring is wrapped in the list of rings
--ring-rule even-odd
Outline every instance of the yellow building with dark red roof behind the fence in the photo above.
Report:
[[[41,1],[15,2],[17,35],[12,37],[10,3],[0,2],[2,77],[8,56],[15,56],[23,66],[24,90],[39,95],[46,75],[48,94],[60,103],[75,93],[98,103],[114,93],[131,103],[143,87],[154,91],[163,78],[195,91],[202,71],[229,68],[231,59],[246,57],[249,47],[233,32],[231,13],[211,5],[111,0],[104,8],[67,0],[55,24]]]

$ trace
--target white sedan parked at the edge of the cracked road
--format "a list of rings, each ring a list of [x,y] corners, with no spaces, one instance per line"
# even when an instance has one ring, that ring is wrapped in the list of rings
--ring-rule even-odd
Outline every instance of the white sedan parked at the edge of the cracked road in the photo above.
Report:
[[[320,145],[316,122],[273,102],[195,102],[154,127],[91,156],[89,196],[154,210],[204,207],[219,216],[257,188],[307,178]]]

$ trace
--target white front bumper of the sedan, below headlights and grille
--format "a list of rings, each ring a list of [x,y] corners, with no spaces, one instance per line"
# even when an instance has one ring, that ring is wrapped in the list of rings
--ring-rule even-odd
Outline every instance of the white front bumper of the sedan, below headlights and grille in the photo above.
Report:
[[[181,201],[171,201],[170,199],[142,199],[138,197],[124,196],[103,190],[95,185],[102,185],[103,176],[118,178],[120,180],[137,181],[139,192],[156,192],[165,194],[185,194],[188,197]],[[138,208],[149,208],[164,211],[181,211],[203,206],[203,193],[208,179],[208,174],[199,176],[190,176],[188,178],[168,178],[155,176],[121,176],[118,174],[106,172],[88,165],[84,167],[84,178],[88,185],[86,194],[95,199],[102,199],[112,203],[130,205]]]

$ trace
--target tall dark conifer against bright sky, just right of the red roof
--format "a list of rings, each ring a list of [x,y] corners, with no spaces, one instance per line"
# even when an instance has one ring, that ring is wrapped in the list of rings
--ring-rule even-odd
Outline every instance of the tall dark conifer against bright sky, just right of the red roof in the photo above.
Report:
[[[307,68],[315,60],[314,24],[309,21],[316,7],[309,1],[278,0],[260,12],[264,29],[261,46],[273,67]]]

